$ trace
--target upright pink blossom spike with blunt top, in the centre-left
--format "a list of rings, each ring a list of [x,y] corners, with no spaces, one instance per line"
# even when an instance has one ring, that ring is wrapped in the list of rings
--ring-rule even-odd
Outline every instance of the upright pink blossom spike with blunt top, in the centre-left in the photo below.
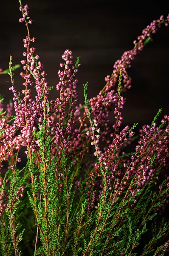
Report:
[[[76,91],[76,84],[78,82],[76,79],[76,72],[78,72],[78,70],[73,66],[72,58],[72,52],[69,49],[65,50],[62,55],[62,59],[65,63],[60,64],[60,67],[65,67],[65,69],[63,71],[58,71],[60,81],[56,84],[56,90],[60,92],[60,97],[56,98],[55,101],[51,101],[51,109],[54,112],[52,120],[54,120],[54,117],[59,119],[59,122],[56,122],[52,131],[55,134],[54,144],[56,147],[54,148],[54,152],[57,149],[58,154],[61,154],[63,148],[65,148],[65,152],[68,152],[73,139],[75,113],[73,106],[76,105],[78,96]],[[66,127],[64,127],[66,108],[68,108],[68,106],[68,121]],[[70,135],[71,140],[68,139]]]

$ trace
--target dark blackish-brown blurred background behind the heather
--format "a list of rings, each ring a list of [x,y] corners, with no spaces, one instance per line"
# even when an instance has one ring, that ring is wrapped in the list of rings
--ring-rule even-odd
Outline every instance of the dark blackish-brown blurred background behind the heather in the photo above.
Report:
[[[77,90],[79,103],[84,102],[83,84],[89,82],[89,98],[96,96],[104,87],[104,77],[111,74],[116,60],[124,51],[133,48],[133,41],[141,35],[142,29],[158,19],[166,17],[169,8],[163,3],[151,8],[143,6],[136,9],[129,3],[109,1],[53,1],[24,0],[29,5],[29,16],[34,20],[30,25],[31,36],[37,38],[32,47],[37,49],[40,61],[47,73],[50,86],[58,82],[57,70],[62,62],[65,49],[73,51],[74,60],[81,56]],[[9,56],[13,55],[13,64],[18,64],[25,48],[23,38],[27,35],[24,23],[19,23],[22,16],[19,1],[9,0],[0,4],[0,67],[8,68]],[[163,108],[163,114],[169,114],[169,26],[162,26],[153,36],[153,42],[132,61],[128,69],[132,77],[132,88],[124,93],[126,103],[122,112],[124,125],[151,123],[153,117]],[[17,89],[22,90],[23,79],[20,72],[14,72]],[[8,75],[0,76],[0,94],[5,96],[5,103],[12,99]],[[34,93],[34,92],[33,92]],[[57,96],[52,90],[49,99]],[[110,122],[114,123],[114,117]]]

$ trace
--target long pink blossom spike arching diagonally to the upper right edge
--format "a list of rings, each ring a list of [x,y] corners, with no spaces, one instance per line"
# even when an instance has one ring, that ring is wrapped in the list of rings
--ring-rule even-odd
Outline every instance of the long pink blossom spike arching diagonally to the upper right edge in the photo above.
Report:
[[[127,74],[127,68],[131,67],[131,61],[135,59],[135,56],[139,52],[141,52],[144,44],[146,43],[146,40],[150,40],[152,34],[155,34],[158,28],[161,27],[163,23],[165,24],[165,26],[169,24],[169,15],[167,16],[166,20],[164,20],[163,15],[161,15],[159,20],[153,20],[152,23],[142,31],[142,35],[138,36],[137,40],[133,42],[135,45],[134,48],[130,51],[124,52],[121,59],[115,62],[113,73],[111,74],[111,76],[108,75],[105,78],[105,81],[107,83],[104,88],[96,97],[90,99],[90,106],[92,108],[95,118],[99,120],[100,124],[106,126],[106,128],[107,125],[105,124],[109,122],[109,120],[107,120],[107,117],[110,113],[110,106],[112,104],[115,104],[116,106],[118,102],[118,92],[112,90],[112,87],[115,87],[115,84],[118,81],[119,72],[121,71],[122,73],[124,83],[123,86],[121,85],[121,90],[126,91],[127,89],[131,88],[131,78]],[[84,115],[86,115],[86,109]],[[119,121],[118,125],[120,124],[121,122]],[[105,135],[106,134],[107,133],[105,133]]]

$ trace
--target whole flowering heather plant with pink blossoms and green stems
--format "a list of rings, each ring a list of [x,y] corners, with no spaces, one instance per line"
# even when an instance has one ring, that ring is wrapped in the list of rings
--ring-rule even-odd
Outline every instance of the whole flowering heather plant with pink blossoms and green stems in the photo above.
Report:
[[[169,116],[160,125],[158,111],[149,125],[135,136],[136,125],[122,128],[122,94],[130,89],[127,68],[169,15],[153,20],[124,52],[105,78],[99,95],[77,104],[76,73],[80,58],[73,61],[67,49],[62,55],[56,90],[46,81],[43,64],[31,47],[28,5],[21,0],[23,39],[21,60],[23,90],[14,83],[14,94],[4,111],[0,98],[0,255],[41,256],[162,256],[169,251]],[[35,99],[31,87],[35,86]],[[90,86],[90,85],[89,85]],[[110,111],[116,122],[111,127]],[[13,115],[14,111],[14,115]],[[126,148],[137,142],[134,152]],[[101,143],[104,147],[101,148]],[[21,150],[27,155],[23,169]],[[145,239],[146,238],[146,239]]]

